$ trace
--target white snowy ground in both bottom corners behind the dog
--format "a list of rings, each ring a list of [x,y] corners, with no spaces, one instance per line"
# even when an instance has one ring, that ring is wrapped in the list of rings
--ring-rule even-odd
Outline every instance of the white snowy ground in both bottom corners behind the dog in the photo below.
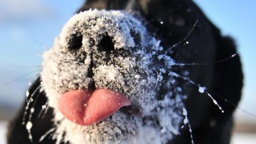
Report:
[[[5,134],[6,134],[7,123],[5,121],[0,121],[0,144],[5,144]],[[231,144],[255,144],[256,143],[256,133],[235,133],[231,140]]]

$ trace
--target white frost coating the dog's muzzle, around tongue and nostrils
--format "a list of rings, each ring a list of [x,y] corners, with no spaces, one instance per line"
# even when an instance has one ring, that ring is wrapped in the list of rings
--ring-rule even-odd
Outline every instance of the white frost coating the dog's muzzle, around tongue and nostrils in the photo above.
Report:
[[[70,49],[72,37],[82,38]],[[100,49],[104,38],[111,51]],[[181,87],[172,75],[174,61],[150,37],[140,21],[121,11],[89,10],[75,14],[43,55],[42,90],[55,110],[57,143],[166,143],[179,134],[183,119]],[[167,77],[166,77],[167,75]],[[123,93],[137,116],[119,110],[100,123],[81,126],[58,110],[60,95],[90,85]],[[161,94],[160,94],[161,93]]]

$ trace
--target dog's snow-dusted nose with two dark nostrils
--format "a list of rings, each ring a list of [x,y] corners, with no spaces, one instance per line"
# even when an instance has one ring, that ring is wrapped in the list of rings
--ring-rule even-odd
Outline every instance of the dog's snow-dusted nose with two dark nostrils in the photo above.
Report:
[[[88,54],[93,50],[111,55],[140,47],[144,33],[145,28],[132,15],[95,10],[72,18],[63,27],[60,44],[74,53],[85,51]]]

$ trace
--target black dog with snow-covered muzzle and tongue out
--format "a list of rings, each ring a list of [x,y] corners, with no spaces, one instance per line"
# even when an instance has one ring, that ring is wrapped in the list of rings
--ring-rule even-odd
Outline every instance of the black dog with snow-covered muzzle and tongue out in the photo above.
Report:
[[[88,0],[43,59],[8,143],[229,143],[241,62],[193,1]]]

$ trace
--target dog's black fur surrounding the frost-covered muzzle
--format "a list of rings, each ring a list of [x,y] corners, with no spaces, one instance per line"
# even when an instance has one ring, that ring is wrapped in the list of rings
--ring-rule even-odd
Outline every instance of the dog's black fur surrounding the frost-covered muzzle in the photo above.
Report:
[[[186,37],[198,20],[195,29],[187,39],[189,44],[181,43],[174,47],[174,52],[171,55],[177,62],[212,62],[225,59],[236,53],[233,39],[221,36],[220,30],[213,26],[203,12],[190,0],[88,0],[79,11],[90,8],[107,10],[132,9],[132,14],[145,23],[147,30],[152,35],[161,39],[161,45],[166,49]],[[161,25],[161,21],[164,22],[163,25]],[[233,59],[221,63],[205,66],[186,66],[182,69],[188,69],[190,79],[206,86],[207,90],[210,90],[210,93],[212,92],[214,99],[225,110],[225,113],[221,113],[209,97],[198,92],[198,87],[188,85],[190,89],[185,91],[188,95],[185,106],[188,110],[188,119],[195,143],[229,143],[235,107],[229,105],[225,99],[237,105],[241,98],[243,74],[239,56],[237,55]],[[178,73],[181,71],[181,67],[175,66],[173,70]],[[179,79],[179,81],[185,84],[183,79]],[[29,91],[35,91],[39,84],[40,79],[38,78]],[[32,117],[34,127],[31,129],[34,143],[38,143],[39,138],[53,127],[51,122],[52,109],[47,111],[45,117],[38,117],[42,105],[46,102],[45,93],[36,92],[34,99],[37,98],[35,113]],[[10,144],[30,143],[26,126],[22,125],[25,106],[26,104],[20,110],[18,116],[10,123],[9,133],[7,134],[7,142]],[[187,128],[182,129],[180,135],[177,135],[170,143],[191,143],[190,133]],[[54,140],[51,139],[51,134],[41,143],[54,143]]]

